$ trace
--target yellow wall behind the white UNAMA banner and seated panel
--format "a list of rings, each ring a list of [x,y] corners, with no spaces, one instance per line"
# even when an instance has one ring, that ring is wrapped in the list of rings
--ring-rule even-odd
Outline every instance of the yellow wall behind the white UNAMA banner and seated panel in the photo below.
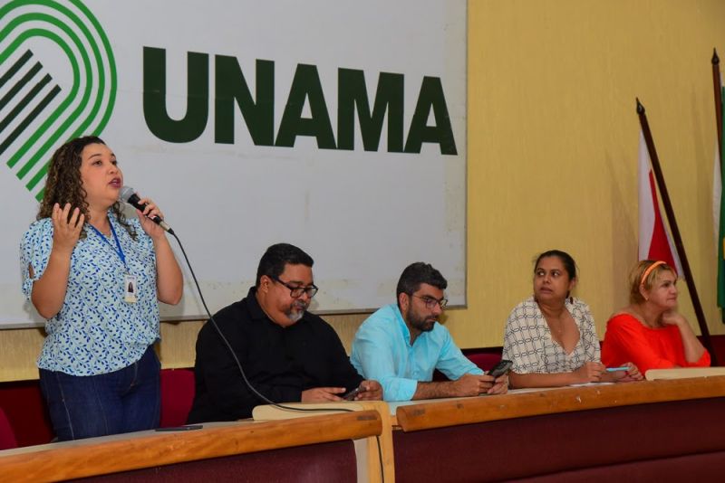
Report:
[[[725,334],[710,201],[710,54],[725,62],[723,19],[719,0],[469,1],[469,307],[447,320],[460,346],[502,344],[508,311],[531,291],[532,259],[551,248],[577,260],[576,293],[604,335],[637,257],[635,97],[710,332]],[[329,319],[349,346],[362,317]],[[164,365],[193,365],[199,325],[163,324]],[[41,344],[38,329],[0,331],[0,381],[36,377]]]

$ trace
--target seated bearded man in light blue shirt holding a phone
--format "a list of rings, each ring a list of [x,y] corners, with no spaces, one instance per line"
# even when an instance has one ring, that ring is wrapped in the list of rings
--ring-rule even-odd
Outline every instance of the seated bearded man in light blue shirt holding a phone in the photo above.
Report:
[[[506,375],[483,375],[460,352],[438,317],[448,300],[448,281],[429,263],[416,262],[402,271],[397,304],[368,317],[353,340],[351,360],[358,373],[382,384],[385,401],[506,393]],[[433,370],[450,381],[432,382]]]

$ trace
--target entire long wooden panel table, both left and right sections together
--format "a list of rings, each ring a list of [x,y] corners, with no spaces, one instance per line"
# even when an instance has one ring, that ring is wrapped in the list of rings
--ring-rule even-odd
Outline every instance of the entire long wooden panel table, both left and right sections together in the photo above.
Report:
[[[335,412],[336,406],[354,412]],[[256,416],[274,421],[3,451],[0,480],[107,475],[102,478],[179,483],[244,474],[250,481],[290,482],[610,483],[720,480],[725,469],[725,376],[423,402],[334,403],[329,414],[304,418],[257,409]],[[300,461],[311,467],[299,469]],[[224,472],[220,463],[232,466]]]

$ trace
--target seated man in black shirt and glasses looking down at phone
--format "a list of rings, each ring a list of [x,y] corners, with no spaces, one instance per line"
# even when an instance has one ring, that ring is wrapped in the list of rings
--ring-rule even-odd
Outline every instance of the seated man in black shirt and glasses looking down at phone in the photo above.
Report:
[[[218,329],[211,320],[201,328],[189,422],[248,418],[266,404],[255,391],[275,403],[342,401],[358,388],[353,399],[382,399],[381,385],[357,374],[333,327],[307,312],[317,293],[313,263],[294,245],[272,245],[247,298],[218,311]]]

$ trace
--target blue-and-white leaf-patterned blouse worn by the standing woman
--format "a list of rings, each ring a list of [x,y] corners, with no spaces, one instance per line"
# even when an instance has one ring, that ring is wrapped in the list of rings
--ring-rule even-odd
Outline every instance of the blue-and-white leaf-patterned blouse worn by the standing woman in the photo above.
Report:
[[[134,241],[109,211],[109,220],[126,257],[124,266],[113,237],[85,227],[71,255],[63,307],[45,323],[45,342],[38,367],[71,375],[107,374],[138,361],[159,338],[156,254],[137,219],[129,220]],[[23,292],[30,298],[53,250],[53,223],[43,218],[25,232],[20,247]],[[28,265],[33,267],[31,276]],[[124,276],[136,277],[138,301],[124,301]]]

